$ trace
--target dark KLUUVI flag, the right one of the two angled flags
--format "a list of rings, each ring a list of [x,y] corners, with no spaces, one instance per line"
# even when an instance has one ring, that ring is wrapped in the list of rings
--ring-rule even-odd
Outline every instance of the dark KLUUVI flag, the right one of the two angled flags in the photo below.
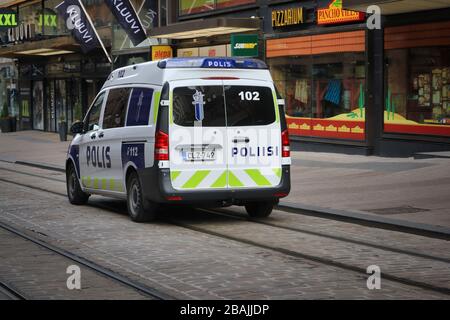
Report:
[[[105,0],[119,24],[135,46],[147,39],[147,34],[129,0]]]

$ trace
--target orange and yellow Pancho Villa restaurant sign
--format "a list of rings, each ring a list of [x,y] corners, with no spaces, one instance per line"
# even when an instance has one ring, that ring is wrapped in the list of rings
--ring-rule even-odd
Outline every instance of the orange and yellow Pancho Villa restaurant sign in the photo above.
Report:
[[[342,9],[342,0],[333,0],[328,8],[317,10],[317,24],[364,21],[365,13]]]

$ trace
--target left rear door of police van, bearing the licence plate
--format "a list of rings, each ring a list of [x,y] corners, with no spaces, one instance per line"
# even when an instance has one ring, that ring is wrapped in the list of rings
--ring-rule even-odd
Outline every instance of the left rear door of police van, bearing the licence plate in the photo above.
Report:
[[[169,161],[177,190],[227,188],[227,129],[221,80],[171,82]]]

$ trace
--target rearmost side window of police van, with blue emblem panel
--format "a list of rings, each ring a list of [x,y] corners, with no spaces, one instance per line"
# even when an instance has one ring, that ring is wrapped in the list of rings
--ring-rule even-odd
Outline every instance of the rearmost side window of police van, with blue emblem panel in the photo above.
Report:
[[[128,105],[127,127],[146,126],[150,118],[153,89],[133,88]],[[158,106],[155,106],[157,108]]]

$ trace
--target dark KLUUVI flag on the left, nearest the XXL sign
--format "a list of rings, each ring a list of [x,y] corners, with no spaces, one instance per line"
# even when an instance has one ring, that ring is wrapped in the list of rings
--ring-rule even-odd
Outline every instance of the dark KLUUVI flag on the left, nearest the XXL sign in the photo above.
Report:
[[[67,28],[72,32],[72,36],[80,44],[84,53],[101,46],[101,40],[79,0],[64,0],[55,9],[66,21]]]

